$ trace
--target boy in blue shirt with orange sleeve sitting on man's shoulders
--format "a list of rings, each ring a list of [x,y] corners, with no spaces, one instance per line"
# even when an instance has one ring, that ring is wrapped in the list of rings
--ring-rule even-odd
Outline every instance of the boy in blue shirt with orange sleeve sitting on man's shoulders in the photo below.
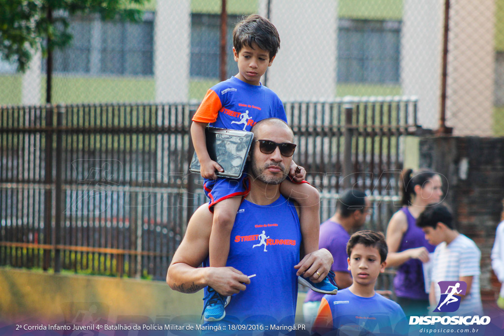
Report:
[[[213,213],[209,237],[209,262],[212,267],[224,267],[230,251],[230,237],[236,212],[242,197],[249,193],[246,171],[240,178],[231,179],[217,176],[222,167],[210,159],[207,151],[205,128],[208,126],[247,130],[261,120],[279,118],[287,122],[287,116],[278,96],[260,82],[275,59],[280,47],[280,36],[275,26],[266,18],[253,14],[238,22],[233,30],[233,54],[238,65],[238,74],[210,88],[193,117],[191,138],[201,164],[204,190]],[[261,146],[274,149],[274,143],[256,139]],[[292,155],[291,145],[282,144],[284,154]],[[289,160],[287,173],[291,181],[281,182],[282,195],[292,198],[299,205],[300,226],[303,250],[314,252],[319,247],[320,195],[317,189],[302,183],[306,174],[304,168]],[[271,169],[277,169],[272,167]],[[246,170],[246,168],[245,168]],[[278,170],[278,169],[277,169]],[[338,288],[332,284],[332,277],[309,279],[300,277],[298,281],[312,290],[321,293],[336,293]],[[204,303],[205,321],[218,321],[224,318],[224,307],[228,298],[214,288],[208,288],[209,295]]]

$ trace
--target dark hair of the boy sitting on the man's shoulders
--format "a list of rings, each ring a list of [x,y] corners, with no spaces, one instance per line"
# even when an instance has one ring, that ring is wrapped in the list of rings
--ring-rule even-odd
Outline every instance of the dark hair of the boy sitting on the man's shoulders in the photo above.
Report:
[[[270,20],[260,15],[252,14],[241,20],[233,29],[233,47],[239,53],[243,46],[253,48],[256,44],[270,52],[270,59],[280,48],[280,36]]]

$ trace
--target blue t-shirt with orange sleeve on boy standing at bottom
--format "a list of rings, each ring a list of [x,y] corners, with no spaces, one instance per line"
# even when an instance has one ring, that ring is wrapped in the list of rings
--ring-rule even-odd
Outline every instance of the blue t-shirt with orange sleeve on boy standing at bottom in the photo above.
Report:
[[[370,298],[353,294],[348,288],[337,295],[325,295],[313,324],[313,331],[324,334],[370,332],[376,335],[406,335],[406,316],[396,302],[375,293]]]

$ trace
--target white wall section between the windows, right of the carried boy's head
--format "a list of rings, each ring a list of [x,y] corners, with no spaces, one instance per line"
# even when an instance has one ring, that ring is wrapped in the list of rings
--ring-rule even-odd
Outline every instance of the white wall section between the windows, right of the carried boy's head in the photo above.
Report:
[[[268,69],[267,86],[283,101],[334,97],[337,8],[337,0],[271,3],[270,19],[281,44]]]

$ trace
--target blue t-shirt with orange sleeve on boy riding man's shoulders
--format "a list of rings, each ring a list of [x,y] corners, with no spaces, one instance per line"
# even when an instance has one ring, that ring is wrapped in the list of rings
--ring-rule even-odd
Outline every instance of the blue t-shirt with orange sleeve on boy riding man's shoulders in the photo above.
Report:
[[[287,122],[282,101],[264,85],[250,85],[236,77],[210,88],[193,117],[211,127],[250,131],[258,121],[279,118]]]

